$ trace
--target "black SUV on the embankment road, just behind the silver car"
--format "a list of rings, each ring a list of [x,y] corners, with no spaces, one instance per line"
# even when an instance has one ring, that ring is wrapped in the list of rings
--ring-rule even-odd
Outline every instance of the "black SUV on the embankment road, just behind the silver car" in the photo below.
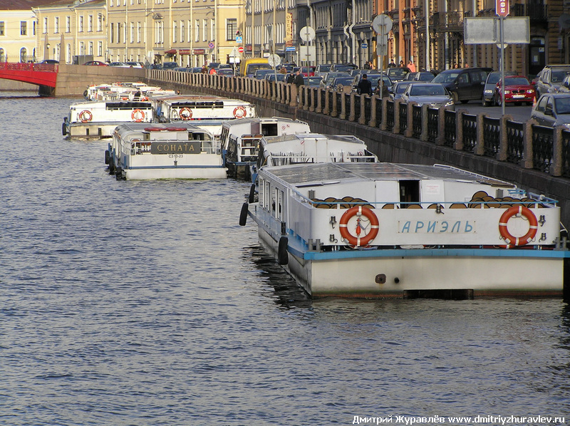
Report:
[[[444,85],[455,102],[467,103],[482,98],[485,80],[491,71],[491,68],[455,68],[442,71],[431,82]]]

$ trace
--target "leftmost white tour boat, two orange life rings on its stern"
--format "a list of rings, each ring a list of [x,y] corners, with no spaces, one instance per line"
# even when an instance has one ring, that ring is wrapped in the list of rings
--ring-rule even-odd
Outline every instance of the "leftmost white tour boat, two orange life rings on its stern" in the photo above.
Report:
[[[151,123],[150,102],[93,100],[73,103],[63,118],[61,133],[69,137],[110,137],[121,123]]]

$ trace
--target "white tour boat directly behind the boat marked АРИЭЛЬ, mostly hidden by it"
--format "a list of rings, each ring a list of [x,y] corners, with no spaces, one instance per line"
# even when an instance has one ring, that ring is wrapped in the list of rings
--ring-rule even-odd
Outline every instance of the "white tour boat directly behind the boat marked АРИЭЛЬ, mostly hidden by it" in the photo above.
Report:
[[[260,167],[315,162],[377,162],[366,143],[356,136],[304,133],[262,137],[250,175],[256,182]]]

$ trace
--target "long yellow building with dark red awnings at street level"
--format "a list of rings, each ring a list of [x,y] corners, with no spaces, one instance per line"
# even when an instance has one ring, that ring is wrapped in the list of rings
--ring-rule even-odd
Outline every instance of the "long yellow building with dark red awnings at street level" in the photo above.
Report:
[[[227,63],[238,47],[242,1],[108,0],[108,58],[180,66]]]

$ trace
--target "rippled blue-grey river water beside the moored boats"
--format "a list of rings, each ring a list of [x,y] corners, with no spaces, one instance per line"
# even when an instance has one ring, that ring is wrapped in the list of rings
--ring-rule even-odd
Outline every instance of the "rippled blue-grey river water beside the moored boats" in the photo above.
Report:
[[[570,422],[560,299],[311,301],[249,185],[117,181],[74,101],[0,93],[0,425]]]

